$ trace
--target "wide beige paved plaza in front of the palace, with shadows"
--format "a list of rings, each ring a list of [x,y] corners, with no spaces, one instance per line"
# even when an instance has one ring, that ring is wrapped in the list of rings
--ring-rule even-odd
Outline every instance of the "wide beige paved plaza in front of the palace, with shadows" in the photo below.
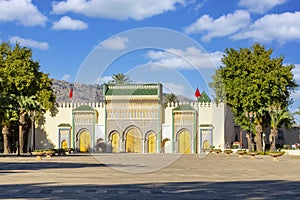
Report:
[[[1,199],[300,199],[300,157],[0,156]]]

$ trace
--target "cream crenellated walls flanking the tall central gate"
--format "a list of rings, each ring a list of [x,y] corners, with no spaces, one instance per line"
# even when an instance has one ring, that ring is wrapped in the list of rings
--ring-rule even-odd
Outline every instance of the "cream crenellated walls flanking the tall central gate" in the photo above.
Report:
[[[187,103],[179,103],[179,104],[169,104],[165,109],[163,109],[163,120],[162,120],[162,143],[165,142],[164,148],[161,152],[163,153],[173,153],[175,141],[173,140],[173,122],[172,122],[172,111],[179,105],[183,105]],[[196,151],[199,153],[203,149],[203,141],[201,141],[201,135],[204,134],[204,131],[211,131],[211,142],[212,146],[215,148],[224,148],[225,143],[225,127],[227,127],[230,131],[227,134],[231,133],[231,129],[233,130],[233,123],[230,120],[225,121],[226,116],[226,107],[224,104],[214,104],[214,103],[188,103],[192,108],[196,110],[196,138],[197,145]],[[95,138],[105,138],[105,123],[106,123],[106,114],[105,114],[105,105],[103,103],[90,103],[90,104],[75,104],[75,103],[59,103],[58,104],[58,114],[55,117],[51,117],[50,113],[45,114],[45,124],[43,128],[38,130],[40,132],[44,132],[46,138],[44,140],[40,140],[36,136],[36,149],[45,149],[45,148],[60,148],[60,140],[59,140],[59,125],[61,124],[69,124],[72,129],[72,110],[81,106],[81,105],[89,105],[94,108],[97,112],[96,120],[95,120]],[[225,124],[228,123],[228,124]],[[37,131],[37,132],[38,132]],[[72,130],[70,131],[72,133]],[[36,134],[38,135],[38,133]],[[70,147],[73,147],[75,143],[75,138],[73,138],[71,134],[70,138]],[[231,138],[229,136],[228,138]],[[48,141],[46,142],[45,139]]]

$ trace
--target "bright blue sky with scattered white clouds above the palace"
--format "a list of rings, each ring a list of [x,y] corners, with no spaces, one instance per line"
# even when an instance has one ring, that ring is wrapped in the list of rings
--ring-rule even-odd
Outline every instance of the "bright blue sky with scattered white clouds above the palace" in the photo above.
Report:
[[[298,0],[0,0],[0,13],[0,41],[32,48],[59,80],[84,74],[83,82],[101,83],[126,73],[193,98],[197,86],[211,94],[207,83],[226,48],[260,42],[295,65],[300,83]],[[300,90],[293,98],[292,111]]]

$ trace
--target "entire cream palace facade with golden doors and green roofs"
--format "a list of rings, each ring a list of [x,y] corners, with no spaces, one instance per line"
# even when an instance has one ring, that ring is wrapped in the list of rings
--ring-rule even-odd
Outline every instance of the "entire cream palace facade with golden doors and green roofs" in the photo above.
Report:
[[[45,124],[36,129],[36,149],[201,153],[224,149],[235,135],[224,104],[206,97],[163,105],[161,84],[103,85],[102,102],[59,103],[57,109],[55,117],[46,113]]]

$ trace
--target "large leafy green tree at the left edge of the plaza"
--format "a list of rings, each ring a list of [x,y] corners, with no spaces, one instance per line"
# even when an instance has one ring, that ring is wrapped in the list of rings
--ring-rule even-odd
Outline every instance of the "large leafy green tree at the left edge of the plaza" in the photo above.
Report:
[[[23,152],[24,130],[29,113],[44,113],[55,105],[52,80],[40,71],[39,62],[32,59],[32,51],[19,44],[0,45],[0,74],[3,82],[2,95],[11,95],[10,104],[19,113],[20,153]]]

